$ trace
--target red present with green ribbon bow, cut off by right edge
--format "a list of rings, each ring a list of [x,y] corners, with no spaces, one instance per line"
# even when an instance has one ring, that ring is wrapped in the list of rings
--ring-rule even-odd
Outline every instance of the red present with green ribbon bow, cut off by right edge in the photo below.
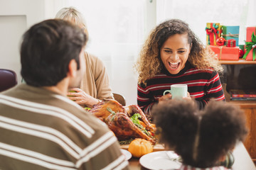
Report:
[[[256,27],[246,28],[245,55],[242,57],[245,60],[253,60],[256,58]],[[250,39],[248,38],[250,35]]]

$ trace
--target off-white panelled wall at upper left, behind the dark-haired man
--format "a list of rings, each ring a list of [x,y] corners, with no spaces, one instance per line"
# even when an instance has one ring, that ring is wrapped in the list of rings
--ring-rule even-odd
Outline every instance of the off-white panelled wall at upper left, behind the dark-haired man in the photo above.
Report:
[[[0,0],[0,68],[16,72],[21,83],[19,45],[33,24],[51,18],[65,0]]]

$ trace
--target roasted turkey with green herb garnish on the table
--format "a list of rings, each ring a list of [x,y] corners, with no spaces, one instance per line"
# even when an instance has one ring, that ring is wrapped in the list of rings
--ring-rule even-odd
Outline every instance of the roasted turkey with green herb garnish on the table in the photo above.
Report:
[[[98,103],[89,112],[105,122],[118,140],[140,137],[156,143],[153,137],[155,128],[137,105],[122,106],[115,100],[107,100]]]

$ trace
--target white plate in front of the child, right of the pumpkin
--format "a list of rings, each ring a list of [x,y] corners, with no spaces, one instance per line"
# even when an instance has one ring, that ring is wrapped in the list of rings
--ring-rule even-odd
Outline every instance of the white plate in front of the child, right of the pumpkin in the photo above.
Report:
[[[142,156],[139,163],[146,169],[178,169],[181,167],[181,162],[171,160],[177,158],[178,155],[173,151],[151,152]]]

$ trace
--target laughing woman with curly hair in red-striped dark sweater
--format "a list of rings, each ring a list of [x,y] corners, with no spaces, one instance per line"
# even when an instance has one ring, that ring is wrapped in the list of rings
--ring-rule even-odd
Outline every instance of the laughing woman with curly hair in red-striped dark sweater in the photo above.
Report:
[[[223,68],[183,21],[171,19],[152,30],[136,69],[137,102],[146,115],[155,103],[171,99],[163,94],[172,84],[187,84],[187,99],[194,98],[199,108],[210,98],[225,100],[218,75]]]

